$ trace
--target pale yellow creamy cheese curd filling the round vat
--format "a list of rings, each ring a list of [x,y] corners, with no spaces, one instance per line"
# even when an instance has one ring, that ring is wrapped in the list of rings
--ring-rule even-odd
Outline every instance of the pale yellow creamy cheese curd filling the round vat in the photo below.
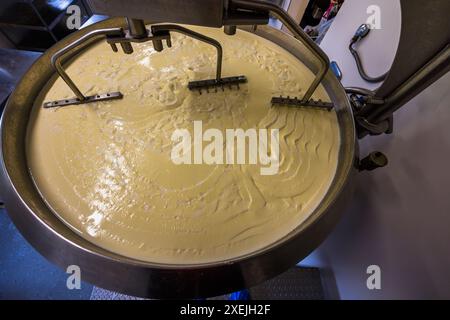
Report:
[[[57,79],[36,101],[27,157],[54,212],[92,243],[155,263],[222,261],[262,249],[313,212],[334,177],[340,136],[334,111],[271,107],[273,95],[300,96],[313,74],[254,34],[192,29],[220,41],[224,76],[241,90],[199,95],[188,81],[214,78],[213,47],[173,33],[114,53],[101,42],[67,67],[85,94],[121,91],[122,100],[44,109],[73,97]],[[293,40],[295,41],[295,40]],[[315,98],[329,101],[320,88]],[[181,164],[171,159],[175,129],[279,129],[277,174],[261,164]]]

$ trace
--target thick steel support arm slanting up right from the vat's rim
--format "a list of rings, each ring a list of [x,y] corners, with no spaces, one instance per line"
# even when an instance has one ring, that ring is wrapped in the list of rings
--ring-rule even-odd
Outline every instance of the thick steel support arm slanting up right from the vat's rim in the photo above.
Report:
[[[358,112],[361,138],[380,131],[392,133],[394,112],[450,70],[450,1],[401,0],[400,4],[402,27],[397,53],[375,92],[375,98],[383,103],[368,102]]]

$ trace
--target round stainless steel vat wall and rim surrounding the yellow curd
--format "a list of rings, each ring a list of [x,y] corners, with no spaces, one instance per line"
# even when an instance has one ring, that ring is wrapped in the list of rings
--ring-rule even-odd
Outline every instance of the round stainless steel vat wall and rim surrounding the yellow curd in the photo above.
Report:
[[[167,265],[138,261],[97,247],[81,238],[45,205],[28,170],[25,142],[33,104],[55,79],[51,57],[94,29],[124,26],[110,19],[65,38],[45,52],[11,95],[1,120],[1,191],[7,211],[24,237],[45,257],[66,268],[80,266],[83,280],[97,286],[142,297],[217,296],[250,287],[287,270],[315,249],[338,221],[352,195],[357,141],[353,115],[345,91],[332,72],[322,82],[337,113],[341,146],[335,178],[310,217],[276,243],[251,254],[219,263]],[[251,28],[245,28],[251,30]],[[267,26],[256,34],[291,52],[310,69],[314,54],[289,35]]]

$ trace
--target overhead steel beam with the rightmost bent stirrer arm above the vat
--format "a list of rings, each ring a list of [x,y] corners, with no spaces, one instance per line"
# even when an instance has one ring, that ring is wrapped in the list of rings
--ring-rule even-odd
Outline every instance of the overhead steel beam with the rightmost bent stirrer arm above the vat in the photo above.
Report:
[[[279,2],[279,1],[278,1]],[[266,24],[268,20],[255,20],[259,13],[264,16],[274,15],[292,32],[294,37],[300,40],[308,50],[314,53],[320,61],[317,75],[310,87],[301,98],[303,104],[309,103],[313,93],[328,72],[330,61],[327,55],[312,41],[309,36],[300,28],[298,23],[281,8],[277,1],[260,0],[156,0],[156,1],[136,1],[136,0],[90,0],[93,11],[99,14],[110,16],[126,16],[138,19],[150,19],[154,22],[176,22],[197,24],[202,26],[222,27],[225,25],[225,33],[232,35],[234,26],[241,24]],[[207,5],[207,6],[206,6]],[[206,16],[205,16],[206,13]],[[233,18],[234,17],[234,18]],[[187,21],[187,19],[189,21]],[[234,20],[233,20],[234,19]],[[127,18],[132,29],[135,21]],[[142,33],[142,27],[139,28]],[[136,31],[137,32],[137,31]],[[158,44],[157,47],[160,47]],[[160,48],[159,48],[160,49]],[[220,76],[217,76],[219,80]],[[285,97],[282,101],[289,101]],[[292,103],[296,103],[293,99]],[[279,100],[281,101],[281,100]],[[316,101],[311,101],[314,106]]]

